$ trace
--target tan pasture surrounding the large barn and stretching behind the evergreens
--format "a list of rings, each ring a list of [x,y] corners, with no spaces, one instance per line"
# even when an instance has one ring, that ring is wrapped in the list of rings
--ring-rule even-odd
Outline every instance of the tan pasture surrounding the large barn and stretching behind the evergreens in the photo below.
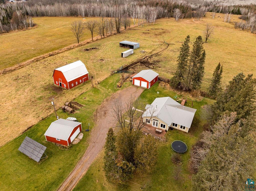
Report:
[[[52,83],[52,72],[55,68],[80,59],[85,63],[89,75],[93,76],[92,83],[95,84],[108,77],[116,68],[166,48],[164,40],[169,43],[169,47],[160,56],[132,69],[139,71],[151,68],[160,76],[170,78],[176,69],[179,47],[185,37],[190,35],[192,46],[196,37],[203,35],[207,23],[211,23],[215,29],[212,38],[204,44],[206,64],[202,90],[206,90],[219,62],[223,64],[223,85],[238,72],[255,75],[256,44],[252,42],[255,42],[256,36],[234,29],[232,23],[224,23],[220,17],[223,14],[217,14],[213,20],[210,13],[207,13],[201,21],[183,19],[176,22],[173,18],[158,19],[154,26],[135,27],[0,76],[0,85],[3,87],[0,95],[0,115],[4,116],[0,123],[6,127],[5,130],[0,130],[0,146],[52,113],[52,97],[55,98],[56,106],[60,107],[65,101],[72,100],[90,88],[90,82],[69,91],[55,87]],[[234,15],[233,19],[238,20],[238,16]],[[140,42],[140,48],[133,55],[121,58],[120,54],[124,49],[119,47],[119,42],[123,40]],[[98,49],[84,51],[91,47]],[[145,50],[146,53],[142,54],[140,50]]]

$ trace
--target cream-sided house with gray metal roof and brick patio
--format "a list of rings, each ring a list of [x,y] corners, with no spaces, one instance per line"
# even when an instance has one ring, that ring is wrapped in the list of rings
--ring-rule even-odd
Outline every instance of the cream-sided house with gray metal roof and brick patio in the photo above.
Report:
[[[145,109],[143,121],[167,131],[171,127],[188,132],[196,112],[196,109],[182,106],[170,97],[156,98]]]

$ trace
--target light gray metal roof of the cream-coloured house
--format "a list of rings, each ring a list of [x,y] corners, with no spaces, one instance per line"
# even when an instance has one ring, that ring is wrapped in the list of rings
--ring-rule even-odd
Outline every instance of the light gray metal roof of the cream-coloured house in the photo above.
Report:
[[[151,105],[145,107],[142,117],[158,117],[169,126],[172,123],[190,128],[196,109],[182,106],[170,97],[156,98]],[[152,114],[152,111],[153,114]]]

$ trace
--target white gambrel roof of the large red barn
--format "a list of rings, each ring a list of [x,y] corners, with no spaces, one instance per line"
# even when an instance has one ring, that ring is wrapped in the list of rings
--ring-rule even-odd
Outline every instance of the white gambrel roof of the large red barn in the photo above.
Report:
[[[61,66],[55,70],[61,71],[68,82],[89,73],[81,60]]]

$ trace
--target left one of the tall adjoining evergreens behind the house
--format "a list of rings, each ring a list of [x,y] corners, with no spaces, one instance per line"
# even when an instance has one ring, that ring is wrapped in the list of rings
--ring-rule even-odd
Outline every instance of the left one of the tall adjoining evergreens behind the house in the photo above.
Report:
[[[180,52],[177,59],[178,66],[173,78],[171,79],[171,85],[174,88],[180,88],[183,86],[186,77],[187,65],[189,61],[189,41],[190,36],[188,35],[180,47]]]

